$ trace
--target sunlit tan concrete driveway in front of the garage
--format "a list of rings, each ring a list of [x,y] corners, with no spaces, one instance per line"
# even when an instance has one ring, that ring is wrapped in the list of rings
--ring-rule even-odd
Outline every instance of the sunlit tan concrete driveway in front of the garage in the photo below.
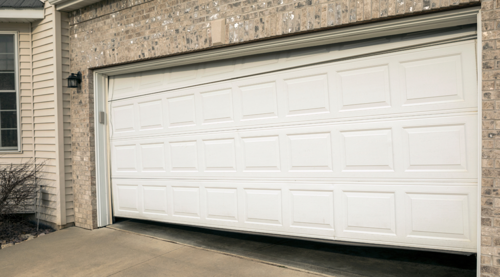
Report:
[[[63,229],[0,250],[0,276],[313,277],[109,228]]]

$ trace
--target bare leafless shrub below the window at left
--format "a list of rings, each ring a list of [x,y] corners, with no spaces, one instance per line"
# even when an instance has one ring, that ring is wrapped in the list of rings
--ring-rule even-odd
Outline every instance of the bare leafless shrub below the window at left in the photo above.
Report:
[[[36,159],[0,165],[0,220],[15,213],[34,212],[43,165],[36,164]]]

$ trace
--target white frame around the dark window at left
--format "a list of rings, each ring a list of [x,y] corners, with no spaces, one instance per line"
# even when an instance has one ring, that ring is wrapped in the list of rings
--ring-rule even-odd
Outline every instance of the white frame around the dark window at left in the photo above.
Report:
[[[19,43],[18,38],[19,34],[17,31],[1,31],[0,35],[3,34],[11,34],[14,36],[14,89],[15,89],[15,109],[16,109],[16,117],[17,117],[17,148],[3,148],[0,147],[0,153],[17,153],[21,152],[21,114],[20,114],[20,97],[19,97]],[[1,128],[1,126],[0,126]],[[34,132],[34,130],[33,130]],[[0,130],[1,136],[1,130]],[[1,137],[0,137],[1,139]]]

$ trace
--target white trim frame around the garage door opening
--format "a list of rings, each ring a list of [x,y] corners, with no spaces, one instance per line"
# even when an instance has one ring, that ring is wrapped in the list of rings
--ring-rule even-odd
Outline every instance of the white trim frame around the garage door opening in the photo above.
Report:
[[[281,39],[261,41],[245,45],[237,45],[214,50],[190,53],[185,55],[167,57],[157,60],[138,62],[129,65],[121,65],[103,69],[97,69],[93,72],[94,77],[94,127],[95,127],[95,163],[96,163],[96,196],[97,196],[97,226],[103,227],[112,224],[111,190],[109,174],[109,152],[108,138],[105,122],[107,122],[107,77],[117,74],[125,74],[136,71],[151,70],[156,68],[165,68],[190,63],[206,62],[218,59],[233,58],[252,54],[261,54],[279,50],[295,49],[307,46],[324,45],[343,41],[352,41],[407,33],[413,31],[422,31],[427,29],[442,28],[463,24],[477,23],[477,45],[480,44],[480,10],[479,7],[470,7],[456,9],[446,12],[432,13],[421,16],[400,18],[383,22],[352,26],[328,30],[317,33],[304,34]],[[478,77],[481,76],[481,55],[477,53]],[[480,82],[478,80],[478,91],[480,91]],[[481,95],[478,93],[479,102]],[[478,105],[478,113],[481,113],[481,106]],[[103,122],[104,124],[102,124]],[[479,117],[478,134],[481,141],[481,120]],[[480,160],[480,143],[479,160]],[[478,172],[480,163],[478,163]],[[480,177],[478,178],[478,198],[480,200]],[[480,201],[478,201],[480,203]],[[478,209],[480,210],[480,209]],[[480,214],[478,216],[478,234],[480,234]],[[477,249],[480,255],[480,236],[478,236]],[[478,271],[479,272],[479,271]]]

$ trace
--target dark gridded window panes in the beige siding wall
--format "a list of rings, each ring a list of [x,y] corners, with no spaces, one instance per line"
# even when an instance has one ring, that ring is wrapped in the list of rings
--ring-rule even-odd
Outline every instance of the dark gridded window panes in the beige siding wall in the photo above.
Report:
[[[15,34],[0,33],[0,151],[18,149]]]

